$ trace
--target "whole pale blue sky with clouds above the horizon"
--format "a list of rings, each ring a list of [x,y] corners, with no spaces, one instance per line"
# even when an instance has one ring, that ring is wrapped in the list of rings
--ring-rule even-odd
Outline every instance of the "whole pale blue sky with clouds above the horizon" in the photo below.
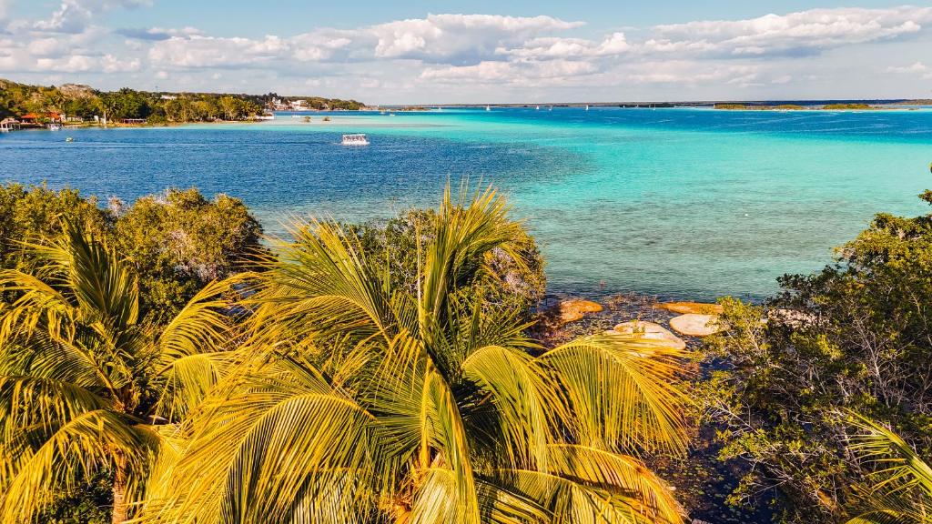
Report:
[[[373,104],[932,98],[932,1],[0,0],[0,77]]]

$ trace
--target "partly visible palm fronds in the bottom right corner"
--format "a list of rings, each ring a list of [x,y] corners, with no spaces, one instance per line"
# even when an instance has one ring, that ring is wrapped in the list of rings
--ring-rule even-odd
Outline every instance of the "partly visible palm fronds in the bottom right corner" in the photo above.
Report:
[[[898,434],[854,416],[862,433],[853,449],[875,469],[873,484],[856,490],[863,503],[848,524],[932,524],[932,467]]]

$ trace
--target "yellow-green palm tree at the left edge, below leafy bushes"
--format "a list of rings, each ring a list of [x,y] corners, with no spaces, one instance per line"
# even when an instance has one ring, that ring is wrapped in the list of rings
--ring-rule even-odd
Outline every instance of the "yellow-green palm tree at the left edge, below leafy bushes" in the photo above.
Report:
[[[163,327],[140,318],[127,264],[80,228],[32,246],[31,272],[0,271],[0,522],[26,522],[97,473],[123,522],[171,426],[219,377],[224,284]]]

